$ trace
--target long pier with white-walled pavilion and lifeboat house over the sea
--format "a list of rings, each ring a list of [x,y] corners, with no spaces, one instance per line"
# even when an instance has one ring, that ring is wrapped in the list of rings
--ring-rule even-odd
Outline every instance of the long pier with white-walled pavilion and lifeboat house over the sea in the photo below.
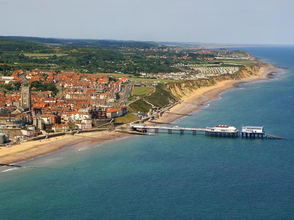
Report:
[[[198,132],[203,132],[207,136],[218,136],[218,137],[238,137],[240,136],[240,131],[233,127],[227,125],[217,125],[214,127],[206,128],[190,128],[190,127],[179,127],[179,126],[152,126],[146,124],[130,124],[130,127],[138,132],[146,133],[147,130],[153,130],[155,133],[159,133],[159,130],[165,130],[168,134],[173,134],[173,131],[179,132],[183,135],[185,132],[190,132],[192,135],[196,135]],[[263,126],[242,126],[242,138],[273,138],[273,139],[283,139],[282,137],[265,134]]]

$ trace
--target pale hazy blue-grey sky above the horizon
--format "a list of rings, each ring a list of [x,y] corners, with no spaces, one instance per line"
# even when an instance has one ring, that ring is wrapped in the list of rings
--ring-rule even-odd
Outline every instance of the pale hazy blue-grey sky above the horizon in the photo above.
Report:
[[[0,0],[0,35],[294,44],[294,0]]]

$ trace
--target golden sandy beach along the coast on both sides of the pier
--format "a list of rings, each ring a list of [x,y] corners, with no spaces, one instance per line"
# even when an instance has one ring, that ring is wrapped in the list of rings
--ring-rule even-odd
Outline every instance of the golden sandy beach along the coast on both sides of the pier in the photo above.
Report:
[[[277,71],[279,71],[278,68],[273,66],[262,67],[259,70],[259,74],[255,77],[243,78],[240,80],[224,80],[218,82],[216,85],[195,89],[192,94],[182,97],[181,102],[174,105],[169,110],[178,114],[189,115],[190,113],[201,109],[205,102],[217,99],[219,95],[226,90],[236,87],[236,85],[240,83],[268,80],[271,78],[271,74]],[[196,104],[191,104],[191,102]],[[183,118],[183,115],[173,115],[165,112],[160,118],[157,118],[154,121],[160,123],[171,123],[179,118]],[[120,133],[117,131],[89,132],[85,134],[86,135],[83,136],[63,135],[38,141],[28,141],[10,148],[1,147],[0,163],[12,164],[24,162],[44,154],[59,151],[62,148],[70,147],[71,145],[81,144],[82,146],[92,143],[102,144],[107,141],[119,140],[121,138],[131,136],[130,134]],[[105,140],[106,138],[107,140]]]

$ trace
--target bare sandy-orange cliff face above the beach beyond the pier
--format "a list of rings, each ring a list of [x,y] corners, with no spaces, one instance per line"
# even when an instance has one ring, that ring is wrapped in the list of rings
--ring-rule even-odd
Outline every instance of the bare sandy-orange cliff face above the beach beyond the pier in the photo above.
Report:
[[[265,64],[258,65],[258,66],[246,66],[235,75],[217,76],[211,79],[203,79],[203,80],[190,80],[183,83],[170,83],[165,85],[164,89],[169,91],[177,99],[180,99],[181,97],[185,95],[191,94],[197,88],[215,85],[216,83],[220,81],[250,78],[250,77],[258,76],[260,68],[264,66]]]

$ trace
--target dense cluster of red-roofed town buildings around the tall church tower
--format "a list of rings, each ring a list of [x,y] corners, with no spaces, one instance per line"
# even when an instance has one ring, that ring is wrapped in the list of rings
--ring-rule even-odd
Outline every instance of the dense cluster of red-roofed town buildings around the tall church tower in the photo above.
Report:
[[[91,129],[94,120],[107,121],[128,112],[128,107],[118,102],[128,83],[125,77],[110,81],[90,74],[34,69],[17,70],[0,82],[21,84],[17,91],[0,93],[2,143],[51,132]],[[32,87],[34,82],[56,85],[59,91],[37,91]]]

